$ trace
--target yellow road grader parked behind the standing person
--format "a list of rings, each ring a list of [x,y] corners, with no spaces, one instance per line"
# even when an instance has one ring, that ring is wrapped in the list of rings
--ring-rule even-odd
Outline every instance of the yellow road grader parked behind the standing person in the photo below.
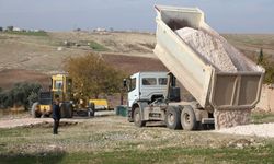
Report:
[[[52,75],[50,90],[39,92],[38,102],[32,105],[32,116],[34,118],[50,117],[53,113],[52,104],[55,97],[59,97],[60,99],[60,114],[62,118],[71,118],[73,117],[73,113],[85,114],[90,117],[94,116],[94,103],[73,98],[72,80],[67,74]],[[87,103],[83,104],[83,102]]]

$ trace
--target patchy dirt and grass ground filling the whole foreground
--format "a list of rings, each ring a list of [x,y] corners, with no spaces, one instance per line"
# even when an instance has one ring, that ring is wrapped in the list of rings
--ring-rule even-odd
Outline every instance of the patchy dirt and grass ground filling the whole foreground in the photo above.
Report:
[[[28,114],[1,118],[0,159],[2,163],[249,163],[259,162],[261,155],[266,163],[273,160],[271,138],[170,130],[162,124],[138,128],[114,112],[100,113],[61,119],[57,136],[52,133],[52,118],[34,119]]]

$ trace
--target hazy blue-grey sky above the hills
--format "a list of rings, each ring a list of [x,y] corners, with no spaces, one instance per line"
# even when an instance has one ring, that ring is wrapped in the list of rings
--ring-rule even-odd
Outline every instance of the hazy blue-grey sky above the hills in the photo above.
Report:
[[[155,4],[197,7],[219,33],[274,33],[273,0],[0,0],[0,26],[155,32]]]

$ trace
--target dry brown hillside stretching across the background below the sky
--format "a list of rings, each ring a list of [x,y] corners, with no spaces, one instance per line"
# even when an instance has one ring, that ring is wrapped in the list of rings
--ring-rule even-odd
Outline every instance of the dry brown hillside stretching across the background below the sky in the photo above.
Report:
[[[274,34],[222,36],[253,60],[256,59],[260,48],[273,60]],[[1,32],[0,87],[10,87],[22,81],[42,82],[48,79],[48,74],[61,72],[62,61],[67,58],[91,51],[102,55],[110,65],[128,73],[165,70],[152,52],[155,45],[155,35],[148,33],[62,32],[30,35]],[[44,85],[47,84],[44,82]]]

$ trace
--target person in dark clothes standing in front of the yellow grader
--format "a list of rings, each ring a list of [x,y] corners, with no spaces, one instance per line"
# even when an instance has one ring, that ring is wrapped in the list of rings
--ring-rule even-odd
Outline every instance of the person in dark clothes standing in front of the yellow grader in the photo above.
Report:
[[[59,101],[59,96],[56,95],[54,104],[53,104],[54,134],[58,134],[58,127],[59,127],[60,118],[61,118],[60,101]]]

